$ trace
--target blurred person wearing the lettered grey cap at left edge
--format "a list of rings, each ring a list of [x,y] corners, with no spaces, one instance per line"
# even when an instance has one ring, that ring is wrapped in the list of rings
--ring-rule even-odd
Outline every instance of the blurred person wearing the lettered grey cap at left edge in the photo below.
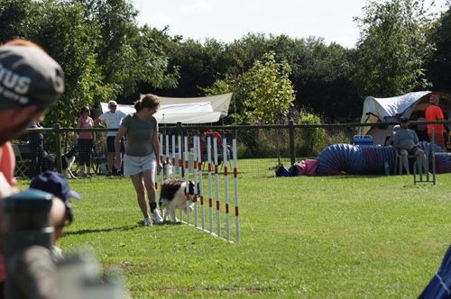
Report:
[[[10,140],[40,121],[64,91],[60,65],[31,41],[13,40],[0,46],[0,239],[3,240],[4,199],[18,192]],[[2,242],[3,243],[3,242]],[[0,296],[4,294],[5,265],[0,249]]]

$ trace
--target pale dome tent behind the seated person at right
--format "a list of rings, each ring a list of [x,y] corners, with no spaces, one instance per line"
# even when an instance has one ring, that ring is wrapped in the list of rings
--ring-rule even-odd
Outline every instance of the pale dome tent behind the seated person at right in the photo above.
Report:
[[[401,116],[412,121],[424,121],[425,111],[428,108],[430,91],[413,92],[406,95],[375,98],[368,96],[364,100],[364,111],[361,122],[381,122],[374,127],[362,127],[360,134],[373,135],[374,144],[383,144],[386,136],[391,135],[392,126],[383,122],[399,122]],[[445,115],[451,113],[451,96],[439,93],[439,106]],[[420,140],[427,140],[426,126],[413,128],[417,131]]]

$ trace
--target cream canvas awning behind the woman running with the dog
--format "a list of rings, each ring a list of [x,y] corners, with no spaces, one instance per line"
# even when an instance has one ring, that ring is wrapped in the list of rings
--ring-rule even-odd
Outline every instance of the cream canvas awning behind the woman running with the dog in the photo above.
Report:
[[[233,94],[203,97],[164,97],[160,98],[160,108],[155,113],[159,123],[208,123],[218,122],[228,113]],[[143,97],[143,95],[141,95]],[[102,112],[108,111],[108,104],[101,103]],[[133,104],[118,104],[117,109],[134,113]]]

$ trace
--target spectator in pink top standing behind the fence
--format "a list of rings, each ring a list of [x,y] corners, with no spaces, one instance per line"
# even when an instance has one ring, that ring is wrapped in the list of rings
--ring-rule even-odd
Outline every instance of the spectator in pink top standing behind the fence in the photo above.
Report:
[[[79,129],[93,129],[94,121],[89,116],[89,107],[81,108],[80,116],[78,117],[77,128]],[[79,131],[78,132],[78,162],[80,168],[80,177],[91,177],[91,156],[94,146],[94,131]],[[86,172],[85,172],[86,166]]]

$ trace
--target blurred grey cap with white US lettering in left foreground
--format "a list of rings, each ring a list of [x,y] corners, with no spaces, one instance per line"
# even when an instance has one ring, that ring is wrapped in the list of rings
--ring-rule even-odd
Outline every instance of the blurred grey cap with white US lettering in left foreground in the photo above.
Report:
[[[0,110],[35,105],[47,108],[64,91],[62,68],[35,46],[0,47]]]

